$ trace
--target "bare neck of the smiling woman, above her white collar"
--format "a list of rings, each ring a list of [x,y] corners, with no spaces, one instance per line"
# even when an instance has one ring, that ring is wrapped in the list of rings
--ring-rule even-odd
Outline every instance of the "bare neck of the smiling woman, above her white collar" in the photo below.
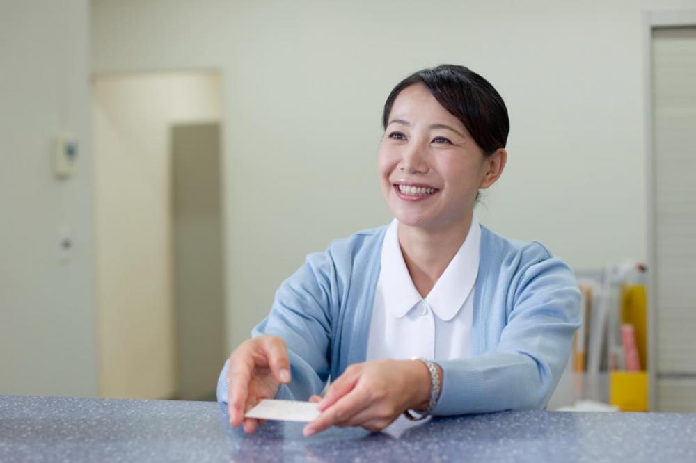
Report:
[[[469,213],[442,229],[423,229],[399,223],[398,236],[404,263],[413,285],[425,298],[457,254],[471,227],[473,214]]]

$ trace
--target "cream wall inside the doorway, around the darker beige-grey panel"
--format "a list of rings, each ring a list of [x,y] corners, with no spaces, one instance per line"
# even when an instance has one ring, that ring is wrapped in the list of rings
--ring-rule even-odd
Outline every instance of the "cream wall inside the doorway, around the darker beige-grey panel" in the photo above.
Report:
[[[93,84],[100,396],[176,391],[171,126],[219,120],[219,76],[97,76]]]

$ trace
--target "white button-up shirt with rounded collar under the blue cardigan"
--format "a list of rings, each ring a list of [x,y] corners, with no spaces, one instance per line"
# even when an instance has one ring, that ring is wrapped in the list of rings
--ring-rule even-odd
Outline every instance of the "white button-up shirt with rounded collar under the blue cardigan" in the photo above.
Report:
[[[367,360],[470,357],[481,229],[475,218],[464,243],[425,298],[413,285],[394,219],[384,236]]]

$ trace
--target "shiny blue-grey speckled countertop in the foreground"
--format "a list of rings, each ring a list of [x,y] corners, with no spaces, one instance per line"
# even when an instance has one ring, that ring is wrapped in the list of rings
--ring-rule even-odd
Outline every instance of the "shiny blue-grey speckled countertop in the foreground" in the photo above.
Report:
[[[0,396],[0,462],[696,462],[696,414],[502,412],[400,437],[230,428],[212,402]]]

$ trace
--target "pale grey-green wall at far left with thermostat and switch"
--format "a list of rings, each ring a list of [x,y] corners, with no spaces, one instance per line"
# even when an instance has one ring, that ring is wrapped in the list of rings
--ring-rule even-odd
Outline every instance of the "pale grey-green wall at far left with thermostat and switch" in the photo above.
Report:
[[[0,394],[97,394],[88,28],[86,0],[0,3]],[[56,131],[79,140],[65,181]]]

